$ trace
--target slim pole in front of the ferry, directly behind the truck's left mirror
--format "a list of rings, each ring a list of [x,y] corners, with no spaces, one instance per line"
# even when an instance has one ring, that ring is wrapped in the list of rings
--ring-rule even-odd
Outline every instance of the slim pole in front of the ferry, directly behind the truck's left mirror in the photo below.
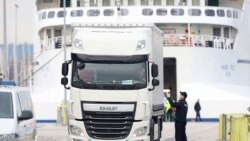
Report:
[[[63,49],[64,49],[64,62],[66,61],[67,57],[67,49],[66,49],[66,0],[63,0],[63,11],[64,11],[64,18],[63,18]],[[64,89],[64,104],[67,105],[67,90]]]

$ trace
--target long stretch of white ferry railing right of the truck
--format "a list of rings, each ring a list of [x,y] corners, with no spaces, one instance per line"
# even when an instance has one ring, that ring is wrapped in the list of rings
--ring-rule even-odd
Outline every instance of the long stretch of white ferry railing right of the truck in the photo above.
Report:
[[[211,35],[165,34],[164,47],[233,49],[234,39]]]

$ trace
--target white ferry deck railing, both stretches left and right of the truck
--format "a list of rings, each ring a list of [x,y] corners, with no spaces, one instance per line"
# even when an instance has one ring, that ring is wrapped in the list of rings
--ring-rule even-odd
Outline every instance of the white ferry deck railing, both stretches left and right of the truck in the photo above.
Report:
[[[71,41],[66,38],[66,46],[71,46]],[[165,34],[163,47],[208,47],[217,49],[233,49],[234,39],[211,36],[211,35],[190,35],[188,34]],[[43,50],[61,49],[63,37],[54,37],[41,41]]]

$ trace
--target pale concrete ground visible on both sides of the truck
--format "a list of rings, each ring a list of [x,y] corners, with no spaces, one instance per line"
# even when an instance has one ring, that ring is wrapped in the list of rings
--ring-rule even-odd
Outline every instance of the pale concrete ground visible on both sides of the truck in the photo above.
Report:
[[[67,141],[67,128],[54,124],[39,124],[37,141]],[[164,123],[163,141],[175,141],[174,123]],[[218,123],[189,122],[187,124],[188,141],[216,141]]]

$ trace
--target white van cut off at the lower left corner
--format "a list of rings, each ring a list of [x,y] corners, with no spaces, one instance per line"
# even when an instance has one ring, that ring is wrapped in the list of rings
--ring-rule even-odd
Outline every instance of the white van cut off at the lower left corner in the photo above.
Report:
[[[28,88],[0,86],[0,141],[34,141],[36,120]]]

